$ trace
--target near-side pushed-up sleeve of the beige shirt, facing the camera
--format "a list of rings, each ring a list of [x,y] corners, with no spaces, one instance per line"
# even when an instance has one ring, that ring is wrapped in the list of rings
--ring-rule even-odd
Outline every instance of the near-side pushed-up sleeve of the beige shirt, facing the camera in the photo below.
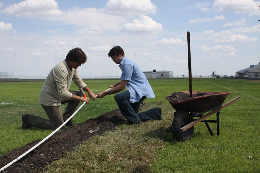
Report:
[[[66,72],[64,70],[57,71],[53,74],[53,79],[56,82],[59,97],[67,100],[71,99],[72,93],[68,91],[68,76],[66,75]]]

